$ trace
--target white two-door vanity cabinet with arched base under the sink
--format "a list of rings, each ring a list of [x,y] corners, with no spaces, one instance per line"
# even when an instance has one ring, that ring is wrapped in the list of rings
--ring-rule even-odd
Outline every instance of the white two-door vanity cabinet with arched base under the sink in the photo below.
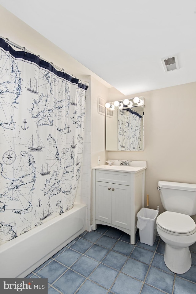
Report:
[[[104,224],[130,235],[135,243],[137,213],[144,207],[145,167],[96,166],[92,169],[92,228]]]

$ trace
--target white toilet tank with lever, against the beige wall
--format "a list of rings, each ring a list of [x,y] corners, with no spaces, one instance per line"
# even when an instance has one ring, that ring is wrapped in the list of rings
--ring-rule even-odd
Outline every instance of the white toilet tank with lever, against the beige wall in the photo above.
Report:
[[[196,184],[158,181],[160,199],[167,211],[196,214]]]

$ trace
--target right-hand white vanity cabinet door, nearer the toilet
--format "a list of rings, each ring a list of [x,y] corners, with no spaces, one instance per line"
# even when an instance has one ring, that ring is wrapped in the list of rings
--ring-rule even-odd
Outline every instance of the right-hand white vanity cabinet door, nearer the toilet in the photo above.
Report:
[[[130,186],[112,184],[112,224],[130,230]]]

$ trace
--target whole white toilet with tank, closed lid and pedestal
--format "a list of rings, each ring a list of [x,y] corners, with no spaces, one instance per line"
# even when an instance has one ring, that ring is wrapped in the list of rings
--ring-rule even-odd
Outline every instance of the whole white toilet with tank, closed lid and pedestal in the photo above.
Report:
[[[165,212],[157,216],[156,229],[165,242],[164,262],[174,273],[191,267],[189,246],[196,242],[196,184],[158,181]]]

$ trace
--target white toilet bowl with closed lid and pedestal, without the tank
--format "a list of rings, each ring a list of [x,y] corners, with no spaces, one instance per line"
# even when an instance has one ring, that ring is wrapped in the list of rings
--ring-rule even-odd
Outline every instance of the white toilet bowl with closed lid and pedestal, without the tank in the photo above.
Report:
[[[157,232],[165,242],[164,262],[174,273],[186,273],[191,267],[189,246],[196,242],[196,224],[185,214],[166,211],[156,219]]]

